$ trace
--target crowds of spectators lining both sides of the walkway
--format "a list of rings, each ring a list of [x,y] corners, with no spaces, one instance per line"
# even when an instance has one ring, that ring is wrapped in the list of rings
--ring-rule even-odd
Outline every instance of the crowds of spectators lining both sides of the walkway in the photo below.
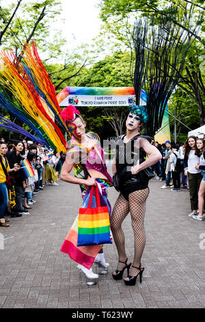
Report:
[[[164,182],[161,189],[171,188],[180,192],[181,188],[189,190],[190,217],[203,221],[205,195],[205,140],[189,136],[184,145],[163,144],[152,140],[161,152],[162,158],[152,166],[155,179]],[[32,141],[7,142],[0,139],[0,225],[9,227],[10,219],[5,214],[18,217],[29,214],[33,200],[46,185],[58,186],[58,177],[64,163],[63,153],[56,153],[48,147],[42,147]],[[21,163],[27,159],[35,175],[26,177]],[[3,162],[3,163],[2,163]]]

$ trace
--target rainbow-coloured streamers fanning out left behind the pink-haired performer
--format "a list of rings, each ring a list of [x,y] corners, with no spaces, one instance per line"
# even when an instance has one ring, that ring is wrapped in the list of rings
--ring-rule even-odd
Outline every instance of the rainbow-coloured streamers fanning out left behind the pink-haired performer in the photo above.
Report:
[[[34,45],[33,45],[34,46]],[[33,67],[34,58],[39,63],[39,68],[37,69],[35,66],[35,75],[36,77],[42,77],[42,62],[38,57],[36,49],[33,49],[33,56],[29,54],[31,49],[28,45],[25,46],[25,61],[23,64],[18,62],[12,51],[1,51],[0,53],[0,85],[5,88],[5,90],[9,90],[13,97],[16,97],[18,102],[18,106],[20,106],[21,110],[24,111],[28,116],[28,119],[32,123],[37,123],[37,129],[42,133],[43,136],[49,138],[49,140],[53,143],[52,147],[56,148],[57,151],[66,151],[66,140],[61,130],[54,123],[51,116],[46,112],[44,106],[42,105],[42,99],[39,95],[39,91],[37,92],[35,86],[33,85],[33,77],[31,77],[31,70]],[[35,54],[34,54],[35,52]],[[29,58],[30,57],[30,60]],[[32,58],[32,59],[31,59]],[[27,63],[27,66],[25,65]],[[34,69],[33,67],[33,69]],[[27,73],[28,72],[28,73]],[[46,70],[44,69],[44,77]],[[34,75],[34,74],[33,74]],[[43,82],[43,79],[41,78]],[[48,75],[47,75],[47,82]],[[38,84],[38,88],[40,88],[40,84]],[[57,101],[56,97],[54,97],[55,88],[51,81],[49,82],[49,86],[46,90],[46,95],[51,97],[51,101]],[[54,88],[54,89],[53,89]],[[49,91],[50,90],[50,91]],[[45,95],[44,95],[45,96]],[[60,108],[57,110],[59,114]],[[59,116],[58,116],[59,118]],[[60,119],[60,118],[59,118]],[[63,122],[61,121],[61,125]]]

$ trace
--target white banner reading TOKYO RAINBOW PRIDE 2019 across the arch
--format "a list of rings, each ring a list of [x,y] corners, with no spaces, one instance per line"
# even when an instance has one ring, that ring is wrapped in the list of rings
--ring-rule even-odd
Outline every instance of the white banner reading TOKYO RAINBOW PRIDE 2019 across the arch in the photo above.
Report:
[[[135,103],[135,95],[68,95],[59,106],[129,106]],[[140,105],[145,105],[140,101]]]

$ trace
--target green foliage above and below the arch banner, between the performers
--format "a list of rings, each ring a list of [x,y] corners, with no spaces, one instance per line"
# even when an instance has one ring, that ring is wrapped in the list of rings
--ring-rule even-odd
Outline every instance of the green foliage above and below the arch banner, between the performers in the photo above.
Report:
[[[82,87],[132,86],[130,60],[130,53],[126,52],[116,52],[112,56],[107,55],[105,59],[96,62],[89,69],[84,68],[81,75],[71,79],[69,85]],[[102,107],[79,109],[87,121],[87,129],[97,132],[102,139],[116,135],[110,121],[115,119],[115,123],[119,123],[121,114],[124,116],[127,112],[127,108],[122,107],[106,108],[108,115]]]

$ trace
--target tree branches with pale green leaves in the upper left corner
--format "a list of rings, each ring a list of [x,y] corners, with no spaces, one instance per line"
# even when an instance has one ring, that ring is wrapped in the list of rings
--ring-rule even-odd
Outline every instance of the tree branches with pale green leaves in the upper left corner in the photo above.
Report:
[[[0,45],[3,49],[13,49],[20,59],[20,53],[25,43],[35,39],[38,48],[48,51],[50,57],[59,54],[59,47],[65,40],[53,36],[55,42],[49,39],[50,24],[55,21],[61,10],[57,0],[25,1],[18,0],[7,8],[1,7],[0,15]],[[55,46],[53,45],[55,43]],[[52,46],[51,46],[52,44]],[[58,47],[58,48],[57,48]]]

